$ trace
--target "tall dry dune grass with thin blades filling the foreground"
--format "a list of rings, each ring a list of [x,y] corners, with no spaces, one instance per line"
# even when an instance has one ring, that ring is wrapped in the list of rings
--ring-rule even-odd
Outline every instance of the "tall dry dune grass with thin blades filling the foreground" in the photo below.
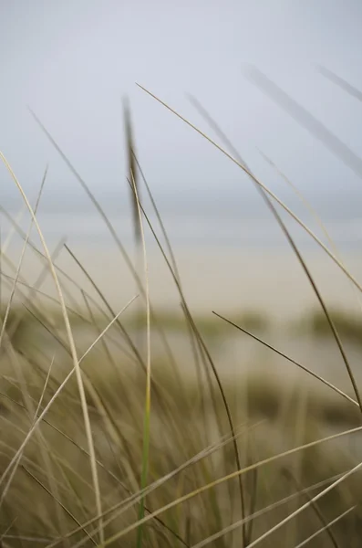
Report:
[[[304,226],[237,152],[232,156],[186,123]],[[150,187],[130,137],[129,182],[135,236],[143,252],[141,272],[85,181],[42,129],[109,227],[135,278],[140,306],[129,296],[116,313],[67,248],[94,290],[90,295],[78,287],[84,306],[75,310],[60,283],[65,273],[55,267],[32,207],[3,157],[42,241],[59,305],[50,306],[40,292],[24,299],[18,291],[20,282],[26,283],[18,276],[20,269],[7,278],[17,299],[4,300],[0,311],[1,546],[246,548],[293,547],[308,540],[310,546],[357,548],[362,535],[357,402],[265,343],[261,334],[273,332],[273,325],[263,314],[233,312],[228,323],[212,313],[191,313],[160,216],[159,236],[143,209],[140,181],[149,192]],[[213,129],[223,135],[215,124]],[[136,172],[141,174],[137,184]],[[329,310],[272,203],[265,201],[322,307],[305,320],[307,333],[333,338],[358,394],[345,343],[360,342],[361,322]],[[153,198],[151,203],[158,213]],[[174,279],[179,310],[159,310],[150,300],[145,221]],[[248,332],[268,353],[255,353],[253,363],[230,376],[217,351]],[[181,340],[178,350],[172,346],[175,333]],[[156,334],[157,351],[150,344]],[[288,376],[274,366],[276,354],[288,359],[296,374]]]

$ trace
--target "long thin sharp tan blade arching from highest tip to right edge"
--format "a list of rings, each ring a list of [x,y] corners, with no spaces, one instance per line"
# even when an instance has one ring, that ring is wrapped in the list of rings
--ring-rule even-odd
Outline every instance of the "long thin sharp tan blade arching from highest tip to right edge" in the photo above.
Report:
[[[284,202],[282,200],[280,200],[278,198],[277,195],[274,195],[274,193],[269,190],[261,181],[259,181],[246,167],[243,163],[239,162],[237,159],[235,159],[233,157],[232,154],[228,153],[226,150],[224,150],[222,148],[222,146],[220,144],[218,144],[217,142],[213,141],[211,139],[211,137],[209,137],[208,135],[206,135],[206,133],[202,132],[202,130],[200,130],[199,128],[197,128],[194,124],[191,123],[191,121],[188,121],[186,118],[184,118],[183,116],[181,116],[181,114],[179,114],[179,112],[175,111],[174,109],[172,109],[167,103],[165,103],[163,100],[160,100],[160,98],[158,98],[156,95],[154,95],[151,91],[147,90],[146,88],[144,88],[143,86],[141,86],[140,84],[136,84],[140,90],[143,90],[145,91],[148,95],[150,95],[150,97],[152,97],[154,100],[157,100],[162,106],[164,106],[166,109],[168,109],[169,111],[172,112],[172,114],[174,114],[175,116],[177,116],[178,118],[180,118],[181,121],[184,121],[187,125],[189,125],[195,132],[198,132],[204,139],[206,139],[206,141],[210,142],[212,144],[212,146],[214,146],[218,151],[220,151],[222,154],[224,154],[227,158],[229,158],[229,160],[231,160],[233,163],[235,163],[236,165],[238,165],[241,169],[243,169],[243,171],[248,174],[254,181],[255,184],[258,184],[258,186],[260,186],[261,188],[264,189],[265,193],[269,196],[271,196],[274,201],[281,205],[281,207],[283,207],[284,211],[286,211],[286,213],[291,216],[296,223],[298,223],[298,225],[300,227],[302,227],[305,232],[310,236],[312,237],[314,240],[315,240],[315,243],[318,244],[318,246],[322,249],[324,249],[324,251],[326,252],[326,254],[328,255],[329,258],[331,258],[335,263],[336,265],[339,267],[339,269],[341,269],[345,274],[346,274],[346,277],[348,279],[350,279],[352,281],[352,283],[357,287],[357,290],[361,291],[362,292],[362,285],[357,281],[357,279],[346,269],[346,267],[338,260],[338,258],[336,258],[336,256],[332,253],[332,251],[330,249],[328,249],[325,244],[318,238],[315,236],[314,232],[308,228],[305,223],[298,217],[295,215],[295,213],[293,213],[293,211],[287,206],[284,204]]]

